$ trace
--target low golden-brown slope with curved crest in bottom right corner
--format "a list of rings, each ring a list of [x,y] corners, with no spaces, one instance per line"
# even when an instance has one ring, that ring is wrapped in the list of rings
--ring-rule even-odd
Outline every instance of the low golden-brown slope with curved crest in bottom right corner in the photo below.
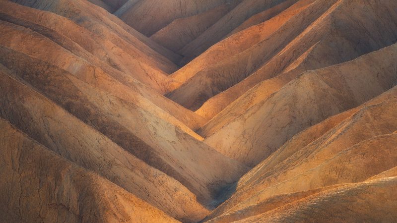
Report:
[[[365,181],[312,195],[237,222],[391,222],[396,217],[395,191],[396,177]]]

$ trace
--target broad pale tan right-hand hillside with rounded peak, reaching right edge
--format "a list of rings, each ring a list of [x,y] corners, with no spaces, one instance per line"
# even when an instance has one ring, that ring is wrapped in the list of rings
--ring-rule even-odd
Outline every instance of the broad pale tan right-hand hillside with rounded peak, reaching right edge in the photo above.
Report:
[[[255,100],[254,95],[262,100],[237,114],[205,142],[233,159],[257,165],[296,133],[396,85],[396,47],[307,71],[273,94],[261,94],[257,88],[243,97],[246,102]]]

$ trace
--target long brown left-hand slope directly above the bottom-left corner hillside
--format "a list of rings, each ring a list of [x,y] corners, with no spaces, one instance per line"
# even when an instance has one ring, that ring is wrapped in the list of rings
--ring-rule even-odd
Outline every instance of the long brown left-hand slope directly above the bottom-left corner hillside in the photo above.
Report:
[[[44,96],[3,72],[0,83],[1,117],[45,147],[174,218],[194,220],[206,213],[196,196],[181,183],[146,165]],[[177,205],[179,202],[183,205]]]

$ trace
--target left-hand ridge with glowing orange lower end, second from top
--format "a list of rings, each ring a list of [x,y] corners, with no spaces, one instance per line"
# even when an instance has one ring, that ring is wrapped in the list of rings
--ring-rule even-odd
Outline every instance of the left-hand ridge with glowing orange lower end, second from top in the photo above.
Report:
[[[45,28],[54,30],[96,56],[100,61],[106,61],[107,65],[131,75],[134,79],[139,80],[159,93],[167,92],[168,86],[175,84],[172,80],[169,80],[164,71],[158,67],[153,67],[149,62],[145,62],[152,60],[150,56],[143,54],[139,56],[139,52],[125,42],[115,45],[108,41],[108,38],[103,38],[87,29],[81,28],[64,17],[46,11],[34,11],[21,6],[12,7],[13,5],[15,4],[2,5],[3,12],[6,13],[6,15],[3,15],[4,20],[27,28],[35,27],[36,31],[41,33],[46,32],[46,30],[43,30]]]

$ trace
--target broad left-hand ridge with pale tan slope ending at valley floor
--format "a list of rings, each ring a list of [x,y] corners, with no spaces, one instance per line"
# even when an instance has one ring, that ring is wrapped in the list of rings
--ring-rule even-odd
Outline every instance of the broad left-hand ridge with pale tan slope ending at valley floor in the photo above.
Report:
[[[4,41],[6,41],[6,39]],[[22,50],[7,42],[3,43],[6,47],[12,47],[16,51]],[[32,41],[32,45],[33,43],[34,40]],[[56,48],[54,47],[53,49],[55,50]],[[26,50],[22,52],[27,54]],[[40,52],[36,51],[35,56],[39,56],[39,58],[43,60],[48,56],[48,52],[46,53],[46,56],[43,56],[44,54],[40,56]],[[70,59],[70,55],[56,51],[53,53],[54,55],[58,55],[58,58],[47,58],[47,62],[44,62],[3,48],[2,62],[5,66],[13,69],[18,75],[26,75],[32,71],[35,71],[37,74],[43,74],[44,76],[25,76],[25,78],[27,78],[28,82],[33,78],[36,81],[40,80],[39,83],[33,85],[41,89],[43,93],[47,93],[48,90],[51,90],[50,93],[47,93],[49,98],[60,103],[66,110],[70,111],[87,124],[93,125],[99,131],[111,137],[111,139],[140,159],[176,177],[178,180],[183,181],[190,189],[200,194],[200,200],[209,202],[210,197],[214,196],[214,194],[211,193],[215,193],[223,184],[237,180],[239,174],[245,171],[244,167],[239,167],[239,164],[235,163],[237,165],[236,171],[231,172],[230,178],[226,177],[229,179],[223,178],[223,170],[221,168],[214,168],[212,165],[233,169],[233,162],[230,163],[228,158],[223,157],[199,140],[181,131],[181,129],[185,128],[185,131],[199,138],[192,130],[189,130],[186,126],[184,127],[184,125],[178,123],[178,121],[173,120],[172,116],[169,114],[156,109],[156,107],[153,107],[150,103],[148,104],[144,98],[139,96],[136,97],[136,95],[130,93],[130,97],[125,98],[127,101],[124,102],[122,100],[124,99],[122,96],[124,92],[120,91],[122,89],[117,89],[117,91],[115,91],[116,89],[114,89],[112,85],[123,86],[117,81],[109,79],[106,73],[93,72],[93,76],[91,76],[87,73],[87,69],[77,72],[75,69],[77,64],[76,60],[78,61],[81,59],[71,57],[71,59],[74,60],[71,61],[70,64],[73,64],[73,66],[70,67],[68,63],[59,63],[59,61],[66,62],[68,58]],[[59,59],[59,56],[66,57]],[[68,72],[65,72],[62,68],[67,68],[66,71]],[[70,79],[69,76],[76,76],[80,82],[83,81],[99,89],[92,88],[93,86],[91,87],[90,85],[80,84],[80,82],[71,84],[70,80],[67,79],[55,79],[52,81],[54,85],[52,87],[59,89],[58,93],[53,92],[54,89],[43,88],[46,87],[46,81],[49,81],[52,76],[60,74],[66,75],[68,79]],[[75,87],[79,88],[79,91],[71,92],[66,90],[69,89],[65,89],[67,84],[71,84],[71,86],[75,85]],[[128,93],[128,89],[125,90]],[[61,96],[66,97],[68,94],[70,94],[70,96],[68,96],[70,97],[70,102],[61,98]],[[108,98],[108,100],[104,100],[104,98]],[[87,103],[87,100],[90,103]],[[89,115],[87,115],[87,111],[89,111]],[[125,117],[130,118],[126,119]],[[113,123],[113,121],[116,121],[116,123]],[[180,127],[177,127],[178,125]],[[165,129],[169,131],[164,131]],[[120,134],[120,132],[125,133]],[[129,140],[126,141],[126,138]],[[157,151],[157,154],[153,154],[155,151]],[[176,154],[176,151],[179,151],[179,154]],[[213,161],[211,161],[212,164],[207,166],[200,165],[203,162],[208,162],[207,156],[213,158]],[[184,165],[177,160],[180,162],[189,162],[190,164]],[[209,168],[212,169],[212,171],[197,171],[196,168]]]

